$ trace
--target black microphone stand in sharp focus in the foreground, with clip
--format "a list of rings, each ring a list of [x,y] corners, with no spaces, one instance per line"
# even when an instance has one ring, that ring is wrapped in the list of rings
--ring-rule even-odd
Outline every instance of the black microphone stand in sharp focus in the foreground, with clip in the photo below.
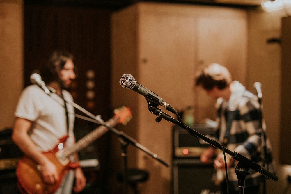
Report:
[[[164,113],[162,111],[162,109],[157,108],[157,106],[159,106],[159,104],[156,104],[151,96],[146,96],[145,99],[148,103],[148,110],[157,116],[156,122],[160,122],[162,119],[165,119],[166,121],[172,122],[173,124],[178,125],[179,127],[186,129],[189,132],[189,134],[191,134],[192,136],[200,138],[200,139],[204,140],[205,142],[209,143],[210,145],[212,145],[220,150],[224,150],[224,152],[229,154],[233,159],[237,160],[238,164],[235,168],[235,173],[236,173],[237,179],[238,179],[238,187],[239,187],[240,194],[244,193],[244,187],[245,187],[244,180],[245,180],[246,175],[250,174],[248,172],[248,170],[250,168],[255,170],[256,172],[259,172],[262,175],[274,180],[274,181],[278,181],[278,179],[279,179],[278,176],[269,172],[268,170],[266,170],[264,167],[260,166],[259,164],[251,161],[250,159],[246,158],[245,156],[239,154],[238,152],[232,152],[229,149],[227,149],[226,147],[221,147],[221,145],[218,142],[216,142],[210,138],[207,138],[206,136],[195,131],[194,129],[191,129],[190,127],[182,124],[182,122],[173,119],[170,115]]]

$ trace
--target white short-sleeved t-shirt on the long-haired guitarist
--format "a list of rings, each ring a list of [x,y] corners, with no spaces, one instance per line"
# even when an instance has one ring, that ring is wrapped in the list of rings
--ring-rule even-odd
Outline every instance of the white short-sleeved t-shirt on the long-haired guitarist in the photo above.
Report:
[[[72,95],[63,90],[65,100],[73,101]],[[67,103],[69,130],[63,99],[57,94],[47,95],[36,85],[26,87],[20,96],[15,116],[32,121],[28,134],[40,151],[48,151],[57,145],[57,141],[69,135],[65,146],[74,142],[74,107]]]

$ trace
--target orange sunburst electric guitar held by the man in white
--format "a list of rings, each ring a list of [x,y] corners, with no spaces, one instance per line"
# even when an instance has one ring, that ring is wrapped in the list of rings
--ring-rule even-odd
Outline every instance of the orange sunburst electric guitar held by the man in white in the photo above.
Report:
[[[113,127],[118,123],[126,124],[131,120],[132,112],[128,107],[114,110],[114,116],[106,122],[107,126]],[[59,180],[54,184],[47,184],[43,181],[41,175],[41,166],[28,156],[21,158],[16,166],[17,186],[21,193],[28,194],[49,194],[54,193],[60,187],[63,177],[69,170],[79,167],[78,163],[72,163],[69,156],[75,152],[84,149],[97,138],[105,134],[109,129],[103,125],[97,127],[89,134],[78,140],[72,147],[65,148],[64,143],[68,136],[64,136],[58,140],[54,149],[43,152],[43,154],[52,162],[57,168]]]

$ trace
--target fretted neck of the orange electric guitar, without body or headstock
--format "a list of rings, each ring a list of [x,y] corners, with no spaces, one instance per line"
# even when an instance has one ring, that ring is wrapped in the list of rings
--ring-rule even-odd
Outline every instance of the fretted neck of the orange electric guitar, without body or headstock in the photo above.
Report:
[[[107,126],[114,127],[118,123],[118,118],[112,117],[108,121],[105,122]],[[75,152],[79,152],[81,149],[84,149],[89,144],[91,144],[96,139],[100,138],[104,135],[109,129],[107,127],[100,125],[86,136],[78,140],[72,147],[65,149],[63,152],[63,156],[68,157]]]

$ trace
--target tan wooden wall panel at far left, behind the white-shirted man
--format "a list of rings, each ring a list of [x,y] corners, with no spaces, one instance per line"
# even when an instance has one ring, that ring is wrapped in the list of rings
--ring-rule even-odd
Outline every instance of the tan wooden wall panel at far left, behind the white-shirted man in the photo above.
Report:
[[[0,1],[0,130],[12,128],[23,88],[23,1]]]

